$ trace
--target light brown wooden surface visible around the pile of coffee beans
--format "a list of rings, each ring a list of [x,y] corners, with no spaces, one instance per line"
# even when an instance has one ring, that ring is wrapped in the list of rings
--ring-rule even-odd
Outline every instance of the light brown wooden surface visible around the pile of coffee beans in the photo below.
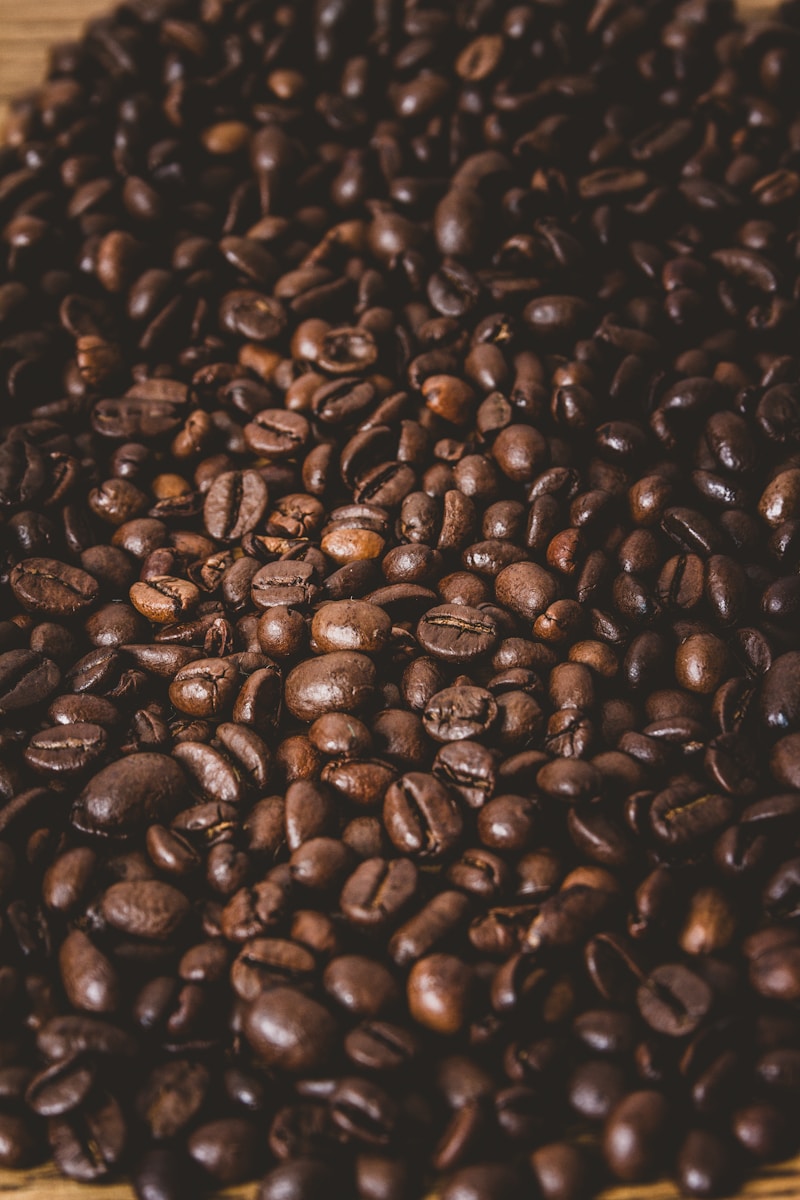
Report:
[[[747,16],[766,12],[772,0],[742,0]],[[102,0],[0,0],[0,130],[8,100],[34,88],[42,78],[47,47],[74,38],[82,23],[102,10]],[[252,1200],[253,1184],[231,1188],[222,1196],[228,1200]],[[0,1196],[14,1200],[132,1200],[133,1189],[126,1183],[88,1184],[61,1178],[53,1166],[28,1171],[0,1170]],[[750,1180],[740,1192],[748,1200],[800,1200],[800,1156],[771,1166]],[[649,1187],[614,1188],[603,1200],[676,1200],[672,1183]],[[343,1198],[344,1200],[344,1198]],[[349,1200],[349,1198],[347,1198]],[[434,1198],[429,1198],[434,1200]]]

